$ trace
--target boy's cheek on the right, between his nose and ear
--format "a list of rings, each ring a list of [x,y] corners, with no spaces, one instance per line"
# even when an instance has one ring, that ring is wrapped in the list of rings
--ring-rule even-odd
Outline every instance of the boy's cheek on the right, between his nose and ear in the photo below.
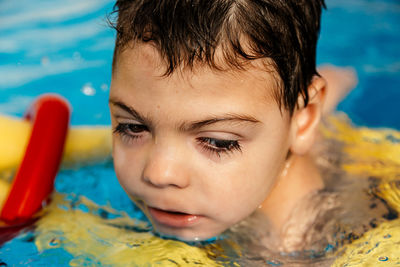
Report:
[[[265,201],[280,175],[286,151],[284,139],[274,145],[259,142],[244,151],[240,160],[220,169],[213,195],[224,220],[236,223]]]

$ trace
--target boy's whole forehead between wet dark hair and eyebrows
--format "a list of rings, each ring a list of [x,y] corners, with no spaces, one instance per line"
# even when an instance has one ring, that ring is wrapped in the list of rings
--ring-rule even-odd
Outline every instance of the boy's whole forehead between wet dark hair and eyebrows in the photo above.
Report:
[[[150,44],[136,45],[119,53],[110,97],[149,113],[155,110],[150,106],[159,102],[156,106],[167,107],[164,110],[171,111],[175,105],[177,113],[178,109],[187,109],[190,114],[209,110],[215,114],[250,112],[257,116],[273,111],[281,116],[274,97],[278,83],[273,71],[261,68],[264,65],[255,60],[244,70],[216,70],[199,63],[165,75],[166,62],[158,50]]]

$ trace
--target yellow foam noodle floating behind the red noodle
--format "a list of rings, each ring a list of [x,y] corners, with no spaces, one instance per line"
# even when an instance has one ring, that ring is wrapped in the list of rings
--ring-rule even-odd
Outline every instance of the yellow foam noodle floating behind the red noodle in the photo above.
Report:
[[[0,115],[0,173],[20,164],[31,134],[29,121]],[[102,161],[111,156],[109,126],[70,128],[64,148],[63,167]]]

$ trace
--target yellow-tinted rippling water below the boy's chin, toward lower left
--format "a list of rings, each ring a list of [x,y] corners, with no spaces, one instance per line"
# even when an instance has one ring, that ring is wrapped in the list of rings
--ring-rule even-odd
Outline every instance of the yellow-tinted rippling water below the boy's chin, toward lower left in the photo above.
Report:
[[[223,245],[196,247],[161,239],[147,223],[85,197],[69,202],[56,194],[44,213],[35,244],[39,252],[64,249],[73,255],[70,266],[238,266],[223,255]]]

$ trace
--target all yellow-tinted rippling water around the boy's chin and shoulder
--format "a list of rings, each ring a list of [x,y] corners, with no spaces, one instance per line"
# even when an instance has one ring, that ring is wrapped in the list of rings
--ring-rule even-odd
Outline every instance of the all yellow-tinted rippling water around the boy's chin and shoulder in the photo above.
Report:
[[[339,169],[358,179],[374,177],[378,183],[370,193],[400,212],[400,133],[354,127],[345,115],[328,118],[321,133],[341,144],[343,160]],[[8,188],[5,180],[0,180],[0,197]],[[243,259],[251,265],[242,266],[288,263],[285,258],[250,255],[251,248],[230,238],[198,246],[162,239],[152,234],[147,222],[71,194],[53,195],[33,235],[44,262],[61,250],[70,255],[66,260],[70,266],[239,266],[246,262]],[[386,221],[339,249],[332,266],[400,264],[398,244],[400,220]],[[309,261],[313,263],[320,264]]]

